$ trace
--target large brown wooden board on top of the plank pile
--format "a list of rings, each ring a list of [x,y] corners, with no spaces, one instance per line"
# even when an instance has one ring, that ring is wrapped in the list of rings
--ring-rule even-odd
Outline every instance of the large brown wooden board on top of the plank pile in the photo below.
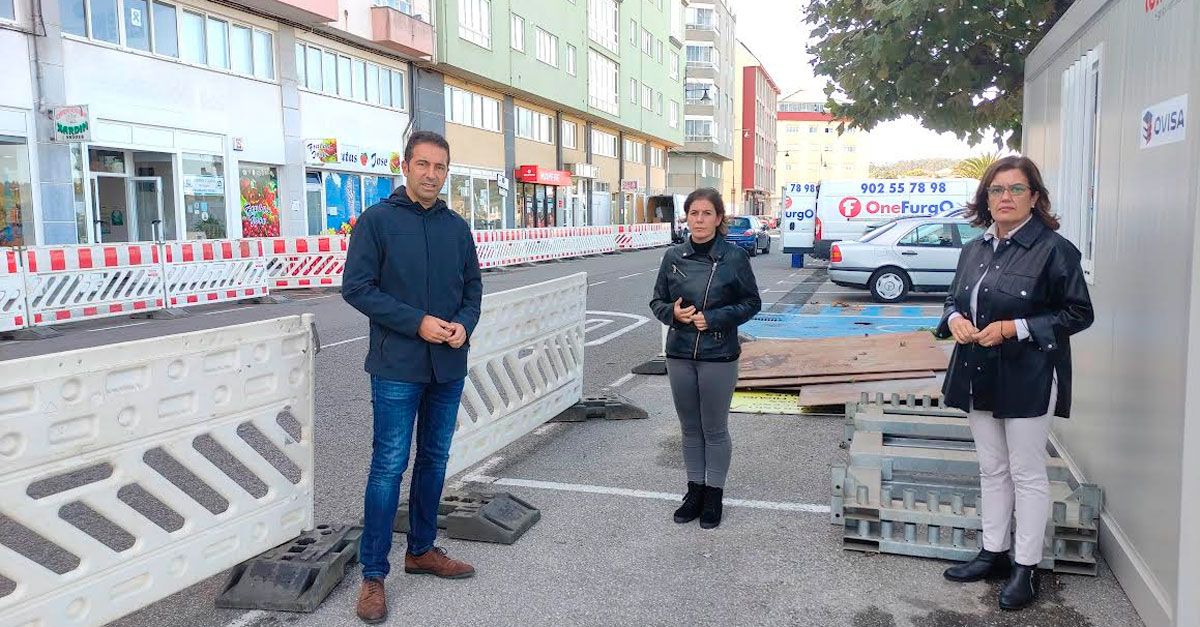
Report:
[[[949,359],[928,332],[760,340],[742,347],[742,380],[946,370]]]

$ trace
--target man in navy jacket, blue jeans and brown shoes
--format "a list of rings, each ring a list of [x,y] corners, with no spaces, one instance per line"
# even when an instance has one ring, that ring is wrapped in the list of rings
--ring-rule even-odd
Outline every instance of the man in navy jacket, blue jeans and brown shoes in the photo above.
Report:
[[[433,541],[484,285],[470,227],[438,198],[450,168],[445,138],[414,132],[402,168],[407,185],[355,223],[342,275],[342,297],[371,322],[366,371],[374,440],[356,608],[368,623],[388,617],[383,581],[390,571],[392,520],[414,426],[416,461],[404,572],[450,579],[475,574]]]

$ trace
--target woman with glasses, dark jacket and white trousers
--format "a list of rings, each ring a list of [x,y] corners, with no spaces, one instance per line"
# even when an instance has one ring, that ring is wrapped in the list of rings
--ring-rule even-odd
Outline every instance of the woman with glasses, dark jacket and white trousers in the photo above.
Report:
[[[944,574],[952,581],[1007,577],[1000,607],[1013,610],[1037,598],[1050,516],[1046,440],[1054,417],[1070,414],[1070,336],[1092,324],[1092,301],[1079,250],[1056,233],[1032,161],[992,165],[968,210],[988,232],[962,246],[937,335],[958,342],[942,393],[947,405],[968,412],[983,550]]]

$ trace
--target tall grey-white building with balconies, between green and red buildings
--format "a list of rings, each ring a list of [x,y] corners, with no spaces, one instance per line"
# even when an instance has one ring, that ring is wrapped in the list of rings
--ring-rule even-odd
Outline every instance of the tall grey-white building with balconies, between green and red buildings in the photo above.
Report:
[[[671,153],[670,191],[722,189],[733,159],[737,18],[730,0],[694,0],[686,8],[684,145]]]

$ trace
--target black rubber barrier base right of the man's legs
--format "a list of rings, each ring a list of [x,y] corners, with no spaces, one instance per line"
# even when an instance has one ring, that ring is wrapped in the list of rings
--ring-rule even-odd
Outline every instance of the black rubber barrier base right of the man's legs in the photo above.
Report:
[[[509,492],[446,492],[438,529],[455,539],[512,544],[541,519],[541,510]],[[392,531],[408,532],[408,502],[400,503]]]

